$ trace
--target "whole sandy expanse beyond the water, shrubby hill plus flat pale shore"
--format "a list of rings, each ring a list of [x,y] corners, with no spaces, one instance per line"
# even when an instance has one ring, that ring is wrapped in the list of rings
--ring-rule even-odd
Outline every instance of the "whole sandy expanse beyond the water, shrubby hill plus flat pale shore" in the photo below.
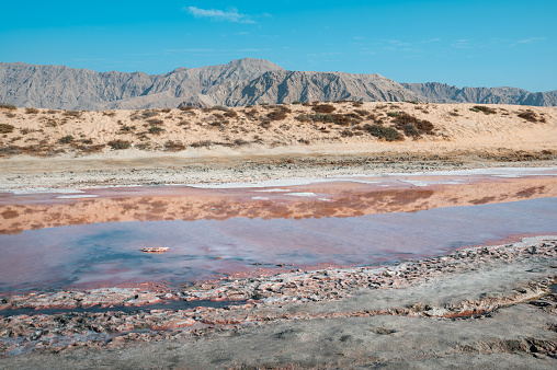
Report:
[[[316,112],[331,109],[322,105],[333,112]],[[345,102],[189,111],[0,109],[4,132],[12,127],[0,138],[0,189],[557,163],[557,108],[475,107]],[[395,130],[400,140],[386,141],[378,127]]]

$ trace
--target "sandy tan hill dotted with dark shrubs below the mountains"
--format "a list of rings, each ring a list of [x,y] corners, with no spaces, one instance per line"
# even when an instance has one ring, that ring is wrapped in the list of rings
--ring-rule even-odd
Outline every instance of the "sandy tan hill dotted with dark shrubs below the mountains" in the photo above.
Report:
[[[362,102],[102,112],[4,107],[0,134],[4,158],[318,148],[331,155],[523,150],[552,157],[557,108]]]

